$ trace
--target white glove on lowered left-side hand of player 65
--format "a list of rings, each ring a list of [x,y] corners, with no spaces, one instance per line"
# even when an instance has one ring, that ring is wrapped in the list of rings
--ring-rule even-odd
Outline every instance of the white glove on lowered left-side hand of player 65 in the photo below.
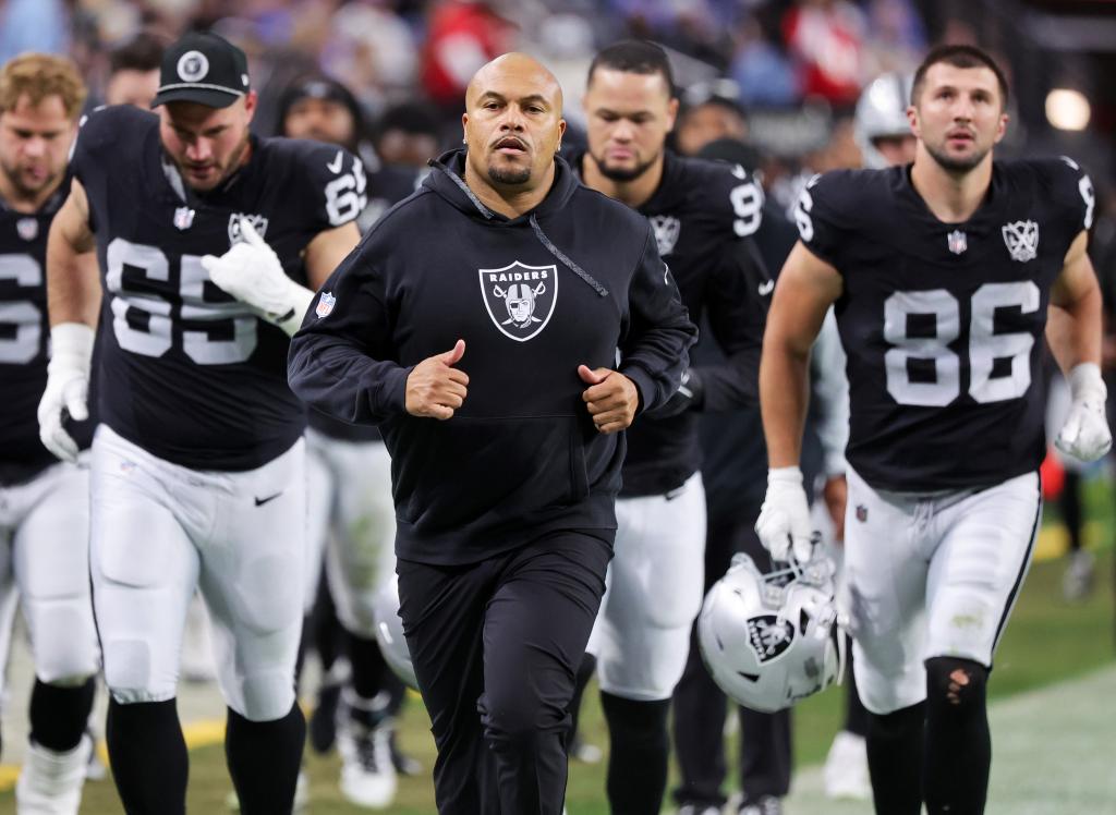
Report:
[[[84,323],[60,323],[50,329],[47,387],[39,400],[39,439],[62,461],[77,463],[77,442],[62,426],[62,411],[76,422],[89,418],[89,361],[94,330]]]

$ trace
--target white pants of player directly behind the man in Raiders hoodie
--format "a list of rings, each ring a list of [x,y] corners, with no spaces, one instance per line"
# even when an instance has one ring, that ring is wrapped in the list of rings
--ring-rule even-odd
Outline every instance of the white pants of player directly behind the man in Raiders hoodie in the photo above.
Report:
[[[586,650],[600,689],[670,699],[690,655],[705,579],[705,489],[694,473],[665,496],[616,501],[615,555]]]

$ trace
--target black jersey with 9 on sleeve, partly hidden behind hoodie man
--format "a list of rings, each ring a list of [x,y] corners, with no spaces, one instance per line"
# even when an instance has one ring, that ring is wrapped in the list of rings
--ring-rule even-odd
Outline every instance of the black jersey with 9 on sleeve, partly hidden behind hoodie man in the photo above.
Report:
[[[575,160],[581,166],[588,156]],[[650,221],[693,323],[708,319],[727,362],[698,366],[702,410],[756,400],[767,270],[751,236],[760,228],[762,188],[742,167],[664,154],[658,189],[638,211]],[[622,496],[662,495],[701,467],[699,414],[636,418],[626,431]]]

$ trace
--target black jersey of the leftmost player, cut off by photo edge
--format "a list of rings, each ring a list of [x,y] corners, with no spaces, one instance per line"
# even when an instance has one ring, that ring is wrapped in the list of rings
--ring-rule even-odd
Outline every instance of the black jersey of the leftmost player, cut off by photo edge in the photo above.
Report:
[[[47,386],[47,233],[69,194],[62,182],[33,214],[0,200],[0,483],[20,483],[57,459],[39,441],[36,415]],[[81,448],[92,422],[69,426]]]

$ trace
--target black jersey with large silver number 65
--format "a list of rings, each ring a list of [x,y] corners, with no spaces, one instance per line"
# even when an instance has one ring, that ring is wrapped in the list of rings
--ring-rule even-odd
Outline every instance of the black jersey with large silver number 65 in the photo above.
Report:
[[[218,189],[184,188],[158,118],[132,107],[93,113],[73,159],[97,234],[100,421],[184,467],[247,470],[288,449],[306,414],[287,385],[289,339],[209,279],[247,217],[306,284],[302,252],[366,203],[360,162],[336,146],[251,141],[249,161]]]

